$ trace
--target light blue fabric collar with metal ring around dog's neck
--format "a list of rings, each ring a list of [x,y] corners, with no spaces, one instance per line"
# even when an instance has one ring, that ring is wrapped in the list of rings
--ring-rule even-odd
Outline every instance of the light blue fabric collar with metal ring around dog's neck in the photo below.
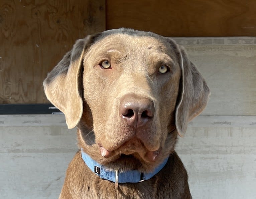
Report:
[[[97,174],[102,179],[115,182],[116,187],[118,186],[118,183],[137,183],[152,178],[165,166],[169,158],[166,158],[151,173],[141,173],[138,170],[119,172],[114,170],[107,170],[103,165],[100,165],[98,162],[93,160],[88,154],[86,154],[83,151],[83,149],[81,150],[81,152],[83,160],[85,161],[86,165],[92,170],[92,172]]]

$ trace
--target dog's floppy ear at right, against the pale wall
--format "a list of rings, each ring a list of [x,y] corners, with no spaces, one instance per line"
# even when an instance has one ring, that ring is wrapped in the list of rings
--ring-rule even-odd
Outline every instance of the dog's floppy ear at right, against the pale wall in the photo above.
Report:
[[[183,47],[178,47],[176,52],[178,52],[176,56],[179,59],[181,75],[175,125],[179,136],[182,137],[188,122],[205,108],[211,92],[196,66],[188,60]]]

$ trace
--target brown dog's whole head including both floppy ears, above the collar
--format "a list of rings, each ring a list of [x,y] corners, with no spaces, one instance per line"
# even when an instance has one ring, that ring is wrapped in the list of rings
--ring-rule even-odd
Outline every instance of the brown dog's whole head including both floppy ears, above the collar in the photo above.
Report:
[[[78,40],[43,85],[93,159],[144,171],[173,151],[210,94],[183,48],[130,29]]]

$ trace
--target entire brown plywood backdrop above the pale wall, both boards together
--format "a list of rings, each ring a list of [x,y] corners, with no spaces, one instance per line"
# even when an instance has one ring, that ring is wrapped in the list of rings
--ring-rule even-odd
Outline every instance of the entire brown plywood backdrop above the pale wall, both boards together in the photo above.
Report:
[[[169,37],[256,36],[256,1],[1,0],[0,104],[48,103],[42,82],[74,42],[119,27]]]

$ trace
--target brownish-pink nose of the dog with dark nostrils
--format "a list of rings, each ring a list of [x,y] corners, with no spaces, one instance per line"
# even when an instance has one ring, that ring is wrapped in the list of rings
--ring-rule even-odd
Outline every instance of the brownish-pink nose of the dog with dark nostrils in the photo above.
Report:
[[[154,112],[155,107],[151,100],[133,95],[122,98],[119,106],[119,115],[134,128],[144,126],[153,118]]]

